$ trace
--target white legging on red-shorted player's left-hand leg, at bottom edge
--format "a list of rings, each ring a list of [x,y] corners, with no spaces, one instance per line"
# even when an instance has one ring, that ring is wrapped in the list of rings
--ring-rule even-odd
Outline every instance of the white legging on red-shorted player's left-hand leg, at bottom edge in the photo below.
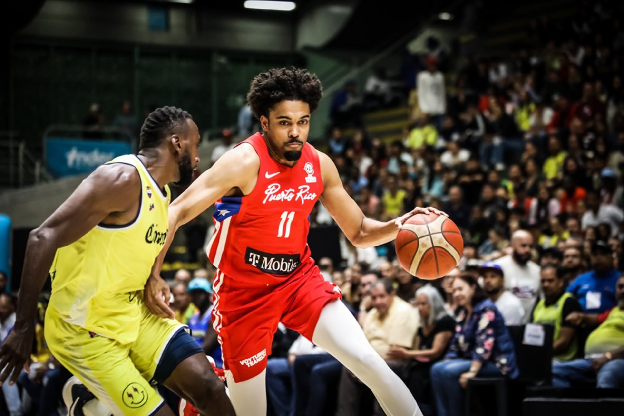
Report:
[[[266,369],[252,379],[236,383],[232,372],[227,371],[230,400],[236,416],[266,415]]]

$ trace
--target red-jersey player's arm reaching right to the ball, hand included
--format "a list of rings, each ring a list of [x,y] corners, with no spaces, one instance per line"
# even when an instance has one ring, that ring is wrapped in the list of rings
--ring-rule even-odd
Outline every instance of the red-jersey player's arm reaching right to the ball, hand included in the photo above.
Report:
[[[328,155],[318,152],[321,163],[321,175],[323,175],[324,190],[321,202],[329,211],[334,221],[343,230],[346,238],[356,247],[366,248],[388,243],[396,238],[401,226],[414,214],[428,214],[434,212],[442,214],[435,208],[421,208],[417,206],[405,215],[388,222],[381,222],[366,218],[358,204],[344,190],[338,169]]]

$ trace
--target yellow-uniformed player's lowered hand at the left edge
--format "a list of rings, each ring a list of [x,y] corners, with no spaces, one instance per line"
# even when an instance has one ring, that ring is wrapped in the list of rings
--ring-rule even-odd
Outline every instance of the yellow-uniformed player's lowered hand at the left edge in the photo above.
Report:
[[[33,335],[34,327],[15,327],[2,343],[2,347],[0,347],[0,385],[4,384],[6,380],[9,380],[9,385],[14,385],[22,367],[26,372],[31,372]]]

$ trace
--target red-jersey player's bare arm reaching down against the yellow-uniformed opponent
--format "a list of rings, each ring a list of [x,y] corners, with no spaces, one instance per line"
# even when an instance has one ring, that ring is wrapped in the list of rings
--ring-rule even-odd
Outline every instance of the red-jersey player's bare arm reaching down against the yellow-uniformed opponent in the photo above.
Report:
[[[238,188],[243,193],[251,191],[251,189],[246,188],[250,185],[253,188],[259,169],[260,158],[258,158],[253,147],[240,145],[220,157],[210,169],[193,181],[187,190],[169,206],[167,241],[165,241],[160,255],[154,261],[150,278],[145,284],[145,304],[153,314],[172,319],[174,316],[173,311],[168,306],[169,287],[160,278],[160,269],[162,269],[165,254],[171,246],[175,232],[180,226],[207,210],[209,206],[233,188]]]

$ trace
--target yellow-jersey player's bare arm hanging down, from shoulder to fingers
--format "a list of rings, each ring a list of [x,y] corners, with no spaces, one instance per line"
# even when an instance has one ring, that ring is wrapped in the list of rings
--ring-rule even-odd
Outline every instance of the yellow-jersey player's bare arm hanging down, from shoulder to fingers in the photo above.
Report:
[[[110,213],[129,211],[139,200],[139,174],[127,165],[104,165],[91,173],[67,200],[32,230],[26,244],[24,270],[17,299],[17,319],[13,331],[0,348],[0,385],[11,375],[15,382],[32,351],[37,299],[54,254],[74,243],[102,222]],[[5,367],[6,365],[6,367]]]

